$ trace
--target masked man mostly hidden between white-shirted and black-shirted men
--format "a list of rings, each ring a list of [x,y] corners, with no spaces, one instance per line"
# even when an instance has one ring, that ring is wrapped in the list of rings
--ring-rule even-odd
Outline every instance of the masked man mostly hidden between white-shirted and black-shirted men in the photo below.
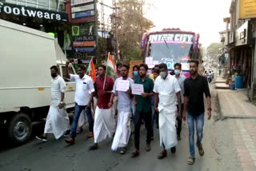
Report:
[[[181,98],[182,98],[182,113],[184,109],[184,81],[186,77],[181,74],[182,64],[175,63],[174,64],[174,74],[175,78],[178,80],[178,84],[181,87]],[[178,107],[178,105],[177,105]],[[182,117],[177,117],[178,125],[177,125],[177,139],[181,140],[181,132],[182,132]]]

